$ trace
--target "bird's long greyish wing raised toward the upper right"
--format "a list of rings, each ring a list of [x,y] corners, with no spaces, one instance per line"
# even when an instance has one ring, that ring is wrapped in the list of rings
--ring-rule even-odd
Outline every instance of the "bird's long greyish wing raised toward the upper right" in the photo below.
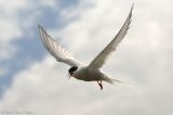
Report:
[[[130,28],[132,10],[133,10],[133,5],[132,5],[131,11],[128,15],[128,18],[125,20],[125,22],[124,22],[123,26],[121,27],[121,29],[119,30],[119,33],[111,40],[111,42],[90,63],[89,67],[101,68],[105,64],[106,59],[112,52],[116,51],[117,46],[121,42],[121,40],[124,38],[128,29]]]

